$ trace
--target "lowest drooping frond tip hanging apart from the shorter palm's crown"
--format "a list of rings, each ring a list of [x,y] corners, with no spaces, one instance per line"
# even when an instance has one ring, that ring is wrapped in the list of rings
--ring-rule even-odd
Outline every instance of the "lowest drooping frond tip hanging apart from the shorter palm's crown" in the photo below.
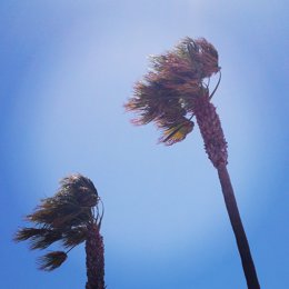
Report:
[[[67,260],[67,253],[63,251],[49,252],[38,259],[39,269],[52,271],[60,267]]]

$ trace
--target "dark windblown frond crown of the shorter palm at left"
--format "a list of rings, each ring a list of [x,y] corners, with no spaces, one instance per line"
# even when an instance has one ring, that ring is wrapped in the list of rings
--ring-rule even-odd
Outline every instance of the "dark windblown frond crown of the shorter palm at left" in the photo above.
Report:
[[[98,202],[98,192],[90,179],[79,173],[63,178],[57,193],[41,200],[26,217],[33,227],[19,229],[14,241],[29,240],[31,250],[42,250],[59,242],[66,251],[51,251],[39,258],[40,269],[53,270],[66,261],[68,251],[86,241],[89,225],[100,226]]]

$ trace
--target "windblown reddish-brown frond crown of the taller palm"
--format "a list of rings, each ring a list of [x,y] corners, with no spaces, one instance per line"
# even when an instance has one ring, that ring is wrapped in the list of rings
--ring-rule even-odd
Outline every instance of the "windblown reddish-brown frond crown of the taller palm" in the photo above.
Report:
[[[134,84],[126,109],[138,113],[136,124],[153,121],[160,142],[183,140],[193,129],[196,100],[208,96],[208,81],[220,71],[218,52],[205,39],[185,38],[171,51],[151,57],[151,69]]]

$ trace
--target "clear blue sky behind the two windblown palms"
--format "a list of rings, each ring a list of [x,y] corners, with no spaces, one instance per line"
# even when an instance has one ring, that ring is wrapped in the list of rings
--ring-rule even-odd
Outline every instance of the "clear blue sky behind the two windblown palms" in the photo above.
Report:
[[[0,288],[84,288],[83,247],[46,273],[41,252],[11,241],[70,172],[91,178],[104,202],[108,288],[246,288],[198,128],[163,147],[122,107],[147,57],[186,36],[219,51],[213,103],[261,288],[289,288],[286,2],[0,1]]]

